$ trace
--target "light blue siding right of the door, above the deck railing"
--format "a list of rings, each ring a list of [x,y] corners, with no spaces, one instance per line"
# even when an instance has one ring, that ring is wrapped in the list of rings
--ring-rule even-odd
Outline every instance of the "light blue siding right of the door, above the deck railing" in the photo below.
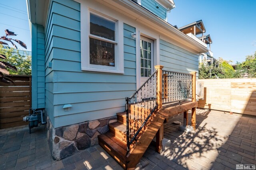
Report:
[[[160,64],[164,70],[198,72],[198,55],[160,39]]]

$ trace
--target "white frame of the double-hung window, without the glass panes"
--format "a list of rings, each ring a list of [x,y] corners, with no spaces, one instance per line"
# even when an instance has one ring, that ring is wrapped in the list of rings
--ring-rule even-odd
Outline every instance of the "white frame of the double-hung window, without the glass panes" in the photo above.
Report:
[[[109,15],[104,15],[89,8],[81,8],[81,69],[84,71],[110,72],[124,74],[123,25]],[[115,41],[90,34],[90,14],[116,23]],[[90,64],[90,38],[115,44],[115,66]]]

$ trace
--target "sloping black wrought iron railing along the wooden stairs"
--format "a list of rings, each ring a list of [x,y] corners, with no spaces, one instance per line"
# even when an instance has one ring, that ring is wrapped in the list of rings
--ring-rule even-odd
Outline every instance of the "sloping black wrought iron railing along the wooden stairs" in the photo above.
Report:
[[[158,107],[157,70],[130,96],[126,98],[126,142],[127,154],[136,137],[145,128],[147,121]]]

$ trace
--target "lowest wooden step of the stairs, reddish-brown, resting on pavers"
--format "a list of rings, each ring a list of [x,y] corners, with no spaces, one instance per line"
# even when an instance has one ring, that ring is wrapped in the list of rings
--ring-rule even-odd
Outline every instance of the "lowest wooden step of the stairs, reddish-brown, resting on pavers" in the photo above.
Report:
[[[126,169],[126,144],[110,132],[98,136],[99,145]]]

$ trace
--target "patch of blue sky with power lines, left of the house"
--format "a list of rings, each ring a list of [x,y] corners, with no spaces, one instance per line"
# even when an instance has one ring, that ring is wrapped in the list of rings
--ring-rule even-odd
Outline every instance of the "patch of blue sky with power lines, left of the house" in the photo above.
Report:
[[[4,30],[9,29],[17,36],[9,36],[12,39],[19,39],[27,45],[31,51],[31,34],[28,23],[26,0],[1,0],[0,1],[0,36],[5,35]],[[10,47],[13,47],[10,44]],[[26,50],[20,45],[19,49]]]

